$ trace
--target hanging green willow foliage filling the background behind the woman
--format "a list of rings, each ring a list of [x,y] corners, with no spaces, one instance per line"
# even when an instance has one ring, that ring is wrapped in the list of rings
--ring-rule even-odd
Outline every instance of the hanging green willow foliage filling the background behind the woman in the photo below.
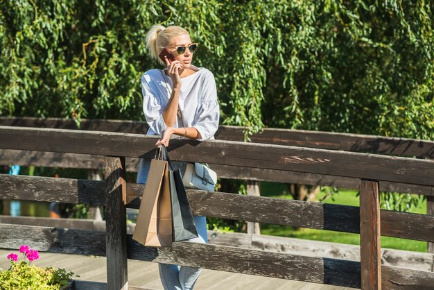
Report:
[[[200,42],[222,121],[433,139],[433,1],[0,1],[0,114],[144,119],[153,24]]]

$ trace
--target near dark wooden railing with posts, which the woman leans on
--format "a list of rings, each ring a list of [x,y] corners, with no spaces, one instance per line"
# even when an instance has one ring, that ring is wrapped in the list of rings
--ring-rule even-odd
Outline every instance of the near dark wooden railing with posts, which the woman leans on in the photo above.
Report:
[[[125,184],[125,157],[153,157],[155,139],[0,126],[2,149],[107,156],[103,181],[0,176],[3,199],[105,205],[106,232],[1,224],[1,247],[17,248],[25,243],[55,253],[106,256],[108,289],[128,284],[127,257],[362,289],[432,287],[434,273],[381,266],[379,236],[433,242],[434,216],[379,210],[378,205],[379,182],[434,187],[432,160],[221,140],[172,140],[169,151],[173,160],[360,180],[360,208],[198,190],[187,194],[193,214],[360,233],[361,262],[189,242],[161,250],[137,244],[127,234],[125,223],[125,203],[137,208],[137,197],[144,191],[144,185]]]

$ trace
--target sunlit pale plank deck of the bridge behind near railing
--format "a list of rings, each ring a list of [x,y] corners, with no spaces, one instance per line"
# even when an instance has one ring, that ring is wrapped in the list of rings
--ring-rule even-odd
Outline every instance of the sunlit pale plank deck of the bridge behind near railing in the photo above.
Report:
[[[18,253],[18,250],[0,250],[0,268],[6,269],[10,263],[6,256]],[[21,255],[19,255],[21,259]],[[89,257],[83,255],[67,255],[55,253],[40,253],[40,259],[34,262],[36,266],[53,266],[66,268],[80,275],[77,280],[106,282],[105,257]],[[145,289],[163,289],[159,282],[158,266],[152,262],[128,260],[128,281],[130,286]],[[346,290],[348,287],[334,287],[330,285],[298,282],[276,278],[266,278],[254,275],[228,273],[205,269],[196,282],[195,290],[217,289],[308,289],[308,290]]]

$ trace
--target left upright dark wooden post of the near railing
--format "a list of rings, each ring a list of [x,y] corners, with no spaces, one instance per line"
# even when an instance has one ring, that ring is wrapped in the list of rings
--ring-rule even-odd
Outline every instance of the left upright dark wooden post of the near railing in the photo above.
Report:
[[[107,289],[128,289],[125,157],[105,157]]]

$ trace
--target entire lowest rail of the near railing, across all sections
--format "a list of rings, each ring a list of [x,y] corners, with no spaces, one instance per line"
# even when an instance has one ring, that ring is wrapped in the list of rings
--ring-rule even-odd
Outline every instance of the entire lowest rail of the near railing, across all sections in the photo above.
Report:
[[[71,233],[60,234],[64,231]],[[32,245],[36,245],[34,248],[37,250],[53,253],[105,255],[104,241],[104,232],[0,224],[1,248],[18,249],[21,243],[31,242]],[[132,240],[131,235],[128,235],[128,258],[321,284],[361,287],[360,263],[339,259],[304,257],[189,242],[177,242],[172,248],[157,250],[137,244]],[[430,289],[434,281],[434,273],[431,272],[390,266],[382,268],[383,289]]]

